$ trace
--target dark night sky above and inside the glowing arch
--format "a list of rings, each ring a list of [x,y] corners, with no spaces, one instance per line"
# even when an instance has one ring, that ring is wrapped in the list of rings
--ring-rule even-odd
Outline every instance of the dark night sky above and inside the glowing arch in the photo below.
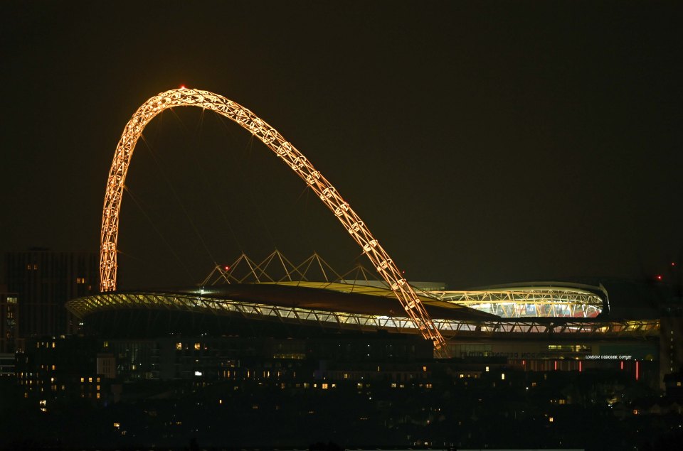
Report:
[[[683,251],[681,23],[680,1],[4,1],[0,251],[97,251],[123,127],[186,85],[280,131],[410,279],[665,271]],[[175,109],[144,136],[120,286],[276,246],[366,263],[226,119]]]

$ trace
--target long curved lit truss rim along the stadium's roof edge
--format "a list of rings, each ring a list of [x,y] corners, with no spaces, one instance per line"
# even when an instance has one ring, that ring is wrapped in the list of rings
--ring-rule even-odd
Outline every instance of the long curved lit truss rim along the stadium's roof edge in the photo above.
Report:
[[[298,285],[298,286],[291,286]],[[310,286],[308,286],[310,285]],[[68,310],[80,318],[92,314],[130,310],[164,310],[226,315],[244,320],[276,321],[337,330],[388,330],[417,333],[401,305],[393,298],[368,293],[340,293],[334,288],[313,288],[319,283],[233,284],[220,289],[190,288],[169,292],[131,291],[100,293],[71,300]],[[329,285],[329,284],[328,284]],[[348,289],[348,286],[345,287]],[[555,287],[556,288],[556,287]],[[321,295],[324,293],[324,295]],[[458,303],[425,298],[425,307],[445,337],[467,333],[578,333],[652,334],[657,320],[606,321],[595,317],[500,317]],[[524,305],[538,305],[527,303]],[[512,305],[519,304],[511,301]],[[547,303],[552,303],[550,300]],[[546,303],[546,304],[547,304]],[[562,303],[559,303],[563,305]],[[526,311],[526,310],[524,310]]]

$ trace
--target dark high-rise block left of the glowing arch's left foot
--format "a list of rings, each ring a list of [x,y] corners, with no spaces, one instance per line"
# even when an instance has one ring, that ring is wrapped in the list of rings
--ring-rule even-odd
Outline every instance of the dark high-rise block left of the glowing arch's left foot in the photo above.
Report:
[[[77,325],[64,304],[96,293],[99,286],[97,255],[92,252],[9,252],[5,269],[7,290],[16,293],[21,338],[73,332]]]

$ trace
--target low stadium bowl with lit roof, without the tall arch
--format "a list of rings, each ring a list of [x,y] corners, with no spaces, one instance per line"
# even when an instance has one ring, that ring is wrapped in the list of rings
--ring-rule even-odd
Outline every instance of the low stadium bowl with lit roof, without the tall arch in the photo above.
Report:
[[[339,276],[315,255],[292,265],[276,254],[261,262],[240,256],[232,265],[217,266],[201,286],[99,293],[71,300],[67,308],[86,330],[127,343],[154,337],[232,337],[232,347],[245,346],[236,344],[245,338],[269,342],[260,347],[263,358],[337,359],[334,349],[342,347],[356,360],[432,357],[381,281],[366,278],[364,271],[361,278]],[[269,275],[272,261],[282,263],[277,276]],[[248,269],[238,274],[240,264]],[[312,281],[301,269],[312,266],[322,270],[321,281]],[[661,385],[662,377],[679,364],[677,349],[669,347],[680,330],[677,322],[665,327],[664,337],[658,318],[615,319],[609,314],[608,288],[602,285],[546,282],[467,291],[445,290],[439,283],[413,286],[447,340],[452,362],[475,364],[481,371],[491,364],[526,371],[620,369]],[[393,352],[405,340],[412,343],[412,353]],[[300,345],[282,352],[283,343],[287,347],[293,342]],[[159,342],[151,346],[163,347]],[[203,374],[206,367],[184,371]]]

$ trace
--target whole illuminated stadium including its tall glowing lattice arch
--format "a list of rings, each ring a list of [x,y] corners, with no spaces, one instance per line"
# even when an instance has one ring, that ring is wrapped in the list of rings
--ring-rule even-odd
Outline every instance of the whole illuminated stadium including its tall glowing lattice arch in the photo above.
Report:
[[[240,256],[232,265],[216,267],[203,283],[191,288],[117,290],[119,212],[127,168],[144,126],[173,107],[216,112],[262,141],[334,214],[382,281],[367,277],[366,271],[339,275],[317,255],[294,265],[274,252],[260,262]],[[612,315],[611,288],[600,283],[525,283],[469,291],[409,283],[349,203],[292,143],[249,109],[201,89],[181,87],[159,93],[129,120],[107,179],[101,232],[101,293],[71,300],[67,308],[85,330],[112,340],[223,337],[228,341],[216,354],[223,362],[230,361],[230,355],[321,361],[330,357],[396,360],[399,355],[422,359],[433,357],[430,352],[423,356],[421,350],[425,342],[432,342],[435,356],[450,362],[460,359],[482,368],[495,362],[532,371],[616,367],[636,379],[647,376],[655,384],[661,384],[662,373],[683,362],[674,346],[681,329],[675,321],[664,337],[657,316]],[[278,275],[272,273],[275,267]],[[310,276],[311,268],[319,270],[320,277]],[[287,340],[300,340],[300,347],[289,349]],[[177,365],[178,359],[192,362],[194,354],[186,352],[211,354],[201,339],[193,342],[192,349],[187,349],[187,343],[178,339],[174,351],[147,342],[149,352],[137,353],[152,356],[145,377],[164,378],[184,371],[162,371],[166,365],[162,363],[155,370],[153,361]],[[133,362],[133,348],[132,342],[122,344],[124,351],[119,354]],[[289,350],[280,352],[285,348]],[[399,348],[401,352],[396,351]],[[200,370],[196,373],[203,375]]]

